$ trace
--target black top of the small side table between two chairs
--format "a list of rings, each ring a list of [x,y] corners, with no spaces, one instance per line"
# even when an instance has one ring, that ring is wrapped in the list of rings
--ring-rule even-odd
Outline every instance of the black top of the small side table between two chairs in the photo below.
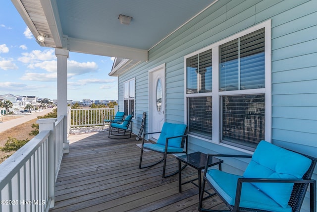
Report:
[[[207,154],[198,151],[190,154],[181,155],[176,158],[182,161],[183,163],[186,163],[196,169],[203,169],[206,166]],[[208,165],[212,166],[222,162],[223,160],[220,160],[215,157],[210,157]]]

